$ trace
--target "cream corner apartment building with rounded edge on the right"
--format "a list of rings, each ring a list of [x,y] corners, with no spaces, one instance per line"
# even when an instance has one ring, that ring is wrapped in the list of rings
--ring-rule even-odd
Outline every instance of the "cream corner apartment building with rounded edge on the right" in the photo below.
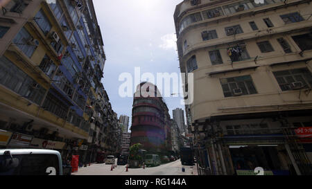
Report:
[[[311,138],[302,139],[312,127],[311,13],[310,0],[176,6],[199,174],[311,174]]]

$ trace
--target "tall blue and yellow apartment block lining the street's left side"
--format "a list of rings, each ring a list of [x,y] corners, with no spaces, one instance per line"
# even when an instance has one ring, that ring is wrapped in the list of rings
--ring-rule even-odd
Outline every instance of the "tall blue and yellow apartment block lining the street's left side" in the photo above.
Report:
[[[89,163],[116,143],[107,131],[117,118],[101,83],[101,30],[92,0],[47,2],[1,7],[0,146],[54,149]]]

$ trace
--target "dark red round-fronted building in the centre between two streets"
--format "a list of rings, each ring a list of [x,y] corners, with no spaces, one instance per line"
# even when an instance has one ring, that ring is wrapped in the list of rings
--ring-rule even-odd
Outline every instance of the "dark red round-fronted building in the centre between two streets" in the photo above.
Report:
[[[150,82],[137,86],[132,108],[131,144],[141,143],[150,153],[171,150],[171,119],[157,87]]]

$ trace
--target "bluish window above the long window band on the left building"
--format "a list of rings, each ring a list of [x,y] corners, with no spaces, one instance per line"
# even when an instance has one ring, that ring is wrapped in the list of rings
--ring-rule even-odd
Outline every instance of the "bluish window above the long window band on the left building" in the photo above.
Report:
[[[33,52],[35,52],[35,48],[37,48],[37,46],[29,43],[32,39],[33,37],[31,37],[28,31],[23,27],[13,39],[13,43],[16,44],[26,56],[31,57]]]

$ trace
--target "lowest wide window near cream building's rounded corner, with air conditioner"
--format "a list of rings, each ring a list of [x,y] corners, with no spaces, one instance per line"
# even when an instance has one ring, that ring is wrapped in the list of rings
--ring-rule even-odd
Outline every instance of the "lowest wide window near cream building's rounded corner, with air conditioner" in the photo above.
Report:
[[[250,75],[220,79],[225,97],[257,93]]]

